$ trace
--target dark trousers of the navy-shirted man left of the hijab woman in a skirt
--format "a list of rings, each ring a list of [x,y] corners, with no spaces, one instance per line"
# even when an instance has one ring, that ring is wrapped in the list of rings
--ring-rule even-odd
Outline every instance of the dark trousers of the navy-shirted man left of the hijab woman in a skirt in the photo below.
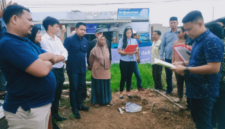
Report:
[[[67,71],[70,83],[70,105],[72,111],[78,110],[82,105],[82,93],[85,87],[86,73],[72,73]]]

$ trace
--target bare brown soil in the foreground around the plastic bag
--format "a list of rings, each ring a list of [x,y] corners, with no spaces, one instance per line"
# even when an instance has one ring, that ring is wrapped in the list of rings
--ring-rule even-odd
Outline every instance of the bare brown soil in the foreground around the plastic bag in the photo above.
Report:
[[[90,110],[88,112],[80,111],[81,119],[74,119],[71,107],[63,102],[59,113],[68,120],[58,123],[58,125],[61,129],[195,129],[190,111],[181,111],[155,91],[138,92],[134,90],[131,93],[132,99],[127,96],[119,99],[119,93],[114,93],[113,106],[106,105],[95,108],[90,101],[86,101],[85,105],[89,106]],[[170,97],[175,98],[175,96]],[[69,98],[63,98],[62,101],[69,103]],[[142,106],[142,111],[120,114],[118,108],[124,107],[126,102]],[[154,102],[155,106],[151,111]],[[182,105],[185,105],[185,102]]]

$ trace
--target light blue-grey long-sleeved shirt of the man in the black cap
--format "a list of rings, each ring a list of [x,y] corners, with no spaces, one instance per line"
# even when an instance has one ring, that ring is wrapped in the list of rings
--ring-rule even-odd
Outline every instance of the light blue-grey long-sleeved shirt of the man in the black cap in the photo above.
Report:
[[[177,32],[167,31],[164,33],[160,49],[160,59],[172,59],[173,43],[177,40]],[[165,54],[165,57],[164,57]]]

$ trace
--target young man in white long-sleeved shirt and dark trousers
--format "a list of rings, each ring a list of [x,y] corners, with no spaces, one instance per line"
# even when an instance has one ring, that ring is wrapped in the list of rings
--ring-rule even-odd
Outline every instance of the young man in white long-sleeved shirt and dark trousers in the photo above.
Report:
[[[59,21],[53,17],[46,17],[43,20],[43,26],[46,30],[46,34],[44,34],[41,38],[41,47],[42,49],[52,52],[57,56],[58,63],[53,65],[53,73],[56,77],[56,90],[54,101],[52,102],[52,119],[54,121],[64,121],[66,118],[59,116],[59,100],[62,94],[62,87],[65,81],[64,78],[64,61],[67,60],[68,52],[64,48],[62,41],[56,35],[59,32]],[[54,126],[54,124],[53,124]],[[53,127],[54,128],[54,127]]]

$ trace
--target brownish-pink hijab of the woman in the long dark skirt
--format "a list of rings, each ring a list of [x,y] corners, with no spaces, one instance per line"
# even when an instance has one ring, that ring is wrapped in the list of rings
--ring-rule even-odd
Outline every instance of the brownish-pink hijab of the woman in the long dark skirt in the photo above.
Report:
[[[110,60],[109,60],[109,49],[107,44],[102,46],[100,44],[101,38],[105,36],[99,36],[97,38],[97,44],[93,49],[93,55],[98,59],[102,66],[104,66],[105,70],[110,69]]]

